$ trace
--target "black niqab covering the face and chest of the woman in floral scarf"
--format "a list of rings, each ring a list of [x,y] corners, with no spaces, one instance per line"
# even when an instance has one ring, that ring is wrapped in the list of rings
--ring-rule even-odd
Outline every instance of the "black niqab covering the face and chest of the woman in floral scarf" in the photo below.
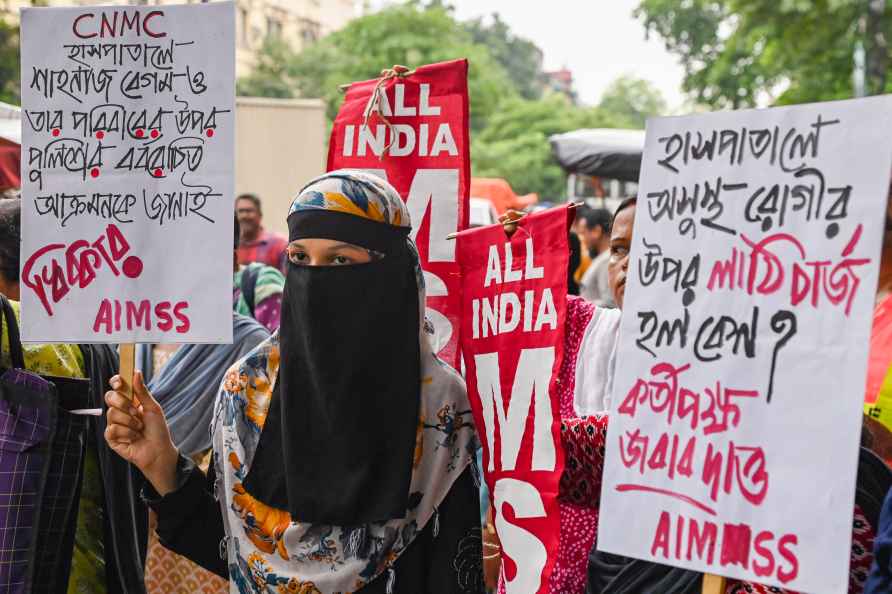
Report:
[[[289,228],[290,241],[336,239],[384,257],[288,265],[279,373],[245,489],[299,522],[404,517],[421,391],[408,229],[330,211],[296,212]]]

